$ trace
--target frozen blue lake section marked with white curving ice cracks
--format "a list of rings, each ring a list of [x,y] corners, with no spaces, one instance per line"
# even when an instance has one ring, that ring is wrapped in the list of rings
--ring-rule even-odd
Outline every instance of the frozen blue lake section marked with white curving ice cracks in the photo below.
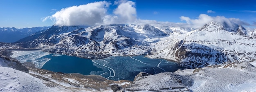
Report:
[[[101,75],[110,80],[130,80],[139,72],[157,74],[178,70],[177,63],[163,59],[150,59],[144,56],[110,56],[104,59],[92,60],[95,66],[103,69],[90,74]]]

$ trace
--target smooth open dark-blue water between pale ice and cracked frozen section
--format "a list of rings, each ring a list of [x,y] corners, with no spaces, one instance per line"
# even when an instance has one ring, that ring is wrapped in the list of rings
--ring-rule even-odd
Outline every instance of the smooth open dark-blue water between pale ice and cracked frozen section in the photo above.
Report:
[[[92,60],[78,58],[74,56],[52,56],[52,54],[43,56],[42,58],[51,58],[42,69],[50,70],[53,72],[63,73],[80,73],[84,75],[90,75],[92,71],[103,71],[93,65]]]

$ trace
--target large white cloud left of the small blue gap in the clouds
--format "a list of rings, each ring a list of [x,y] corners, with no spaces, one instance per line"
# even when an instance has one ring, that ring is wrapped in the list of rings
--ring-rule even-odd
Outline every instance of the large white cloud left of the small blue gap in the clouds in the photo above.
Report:
[[[45,17],[43,21],[50,18],[54,20],[55,25],[95,25],[103,22],[109,5],[110,2],[101,1],[67,7]]]

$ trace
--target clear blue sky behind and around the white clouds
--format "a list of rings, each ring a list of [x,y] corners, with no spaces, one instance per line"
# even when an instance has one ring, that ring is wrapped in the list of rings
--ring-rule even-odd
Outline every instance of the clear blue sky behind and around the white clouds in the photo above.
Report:
[[[63,8],[88,4],[90,2],[98,2],[101,0],[0,0],[0,27],[38,27],[52,26],[56,23],[57,17],[53,16],[57,11]],[[126,19],[126,15],[122,15],[122,9],[117,12],[117,7],[121,3],[128,3],[126,0],[121,0],[115,4],[115,0],[106,0],[111,3],[107,6],[104,3],[106,13],[103,17],[118,16],[119,20]],[[184,22],[197,23],[195,20],[200,20],[200,14],[216,19],[216,16],[225,18],[236,18],[242,21],[247,27],[256,28],[256,1],[255,0],[131,0],[135,4],[131,5],[131,9],[135,8],[136,13],[131,11],[136,19],[124,20],[127,23],[132,23],[134,20],[155,20],[157,22]],[[107,6],[107,7],[106,7]],[[101,7],[102,8],[102,7]],[[129,9],[129,8],[128,8]],[[116,13],[114,13],[116,11]],[[209,11],[207,13],[207,11]],[[211,11],[211,12],[210,12]],[[204,15],[204,16],[206,16]],[[44,18],[47,18],[44,22]],[[121,18],[123,16],[123,18]],[[181,17],[184,16],[182,20]],[[202,16],[202,15],[201,15]],[[126,16],[129,17],[130,16]],[[51,20],[52,18],[53,20]],[[63,18],[63,17],[61,17]],[[95,17],[93,17],[95,18]],[[102,18],[102,17],[101,17]],[[185,20],[185,18],[189,18]],[[206,18],[206,17],[203,17]],[[207,17],[208,18],[208,17]],[[108,20],[110,20],[108,19]],[[86,19],[85,19],[86,20]],[[57,21],[58,22],[58,21]],[[108,22],[108,23],[124,23],[124,22]],[[149,22],[148,22],[149,23]],[[90,25],[93,23],[89,23]],[[88,24],[88,25],[89,25]],[[65,25],[65,24],[64,24]]]

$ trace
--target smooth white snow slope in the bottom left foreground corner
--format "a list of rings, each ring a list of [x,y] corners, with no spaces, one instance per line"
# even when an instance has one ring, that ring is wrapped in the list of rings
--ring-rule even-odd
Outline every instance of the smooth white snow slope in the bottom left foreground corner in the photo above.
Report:
[[[58,92],[40,79],[9,67],[0,67],[0,92]]]

